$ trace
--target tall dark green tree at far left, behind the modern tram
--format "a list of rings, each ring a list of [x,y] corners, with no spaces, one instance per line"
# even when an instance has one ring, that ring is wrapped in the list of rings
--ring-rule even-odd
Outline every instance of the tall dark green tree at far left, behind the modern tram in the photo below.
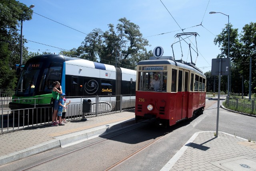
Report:
[[[14,88],[15,64],[20,63],[20,19],[31,20],[32,10],[16,0],[0,1],[0,88]],[[24,43],[26,40],[24,39]],[[26,55],[26,48],[24,55]],[[8,82],[6,82],[8,80]]]

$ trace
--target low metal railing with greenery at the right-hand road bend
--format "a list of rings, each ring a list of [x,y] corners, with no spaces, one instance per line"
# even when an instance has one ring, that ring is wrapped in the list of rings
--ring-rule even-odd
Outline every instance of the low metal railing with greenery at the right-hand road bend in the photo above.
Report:
[[[227,96],[226,105],[229,108],[235,108],[238,112],[239,110],[248,111],[250,114],[255,114],[256,112],[254,100],[249,100],[247,98],[233,98]]]

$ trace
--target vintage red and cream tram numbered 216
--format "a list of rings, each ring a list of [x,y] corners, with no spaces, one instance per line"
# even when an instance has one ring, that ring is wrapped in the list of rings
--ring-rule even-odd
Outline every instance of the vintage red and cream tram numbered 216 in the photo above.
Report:
[[[193,63],[150,57],[138,63],[136,80],[136,121],[157,118],[171,126],[204,110],[206,77]]]

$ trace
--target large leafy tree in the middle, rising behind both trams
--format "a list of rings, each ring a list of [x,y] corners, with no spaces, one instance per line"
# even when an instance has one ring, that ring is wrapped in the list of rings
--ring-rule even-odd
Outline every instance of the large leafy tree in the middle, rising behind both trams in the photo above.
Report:
[[[118,20],[116,28],[108,24],[108,30],[93,29],[76,51],[78,57],[118,67],[135,69],[140,58],[148,57],[145,46],[148,40],[142,38],[139,26],[126,18]],[[151,56],[151,55],[150,55]]]

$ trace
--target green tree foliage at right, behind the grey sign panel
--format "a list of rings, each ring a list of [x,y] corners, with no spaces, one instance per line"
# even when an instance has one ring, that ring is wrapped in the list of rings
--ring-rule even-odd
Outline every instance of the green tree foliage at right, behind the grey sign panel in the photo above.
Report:
[[[256,92],[256,23],[251,22],[243,27],[238,34],[238,29],[230,29],[230,60],[232,67],[230,92],[242,93],[242,76],[244,76],[244,94],[249,89],[249,65],[252,57],[252,92]],[[214,44],[220,47],[221,53],[217,58],[228,57],[228,25],[214,39]],[[225,85],[227,81],[222,81]]]

